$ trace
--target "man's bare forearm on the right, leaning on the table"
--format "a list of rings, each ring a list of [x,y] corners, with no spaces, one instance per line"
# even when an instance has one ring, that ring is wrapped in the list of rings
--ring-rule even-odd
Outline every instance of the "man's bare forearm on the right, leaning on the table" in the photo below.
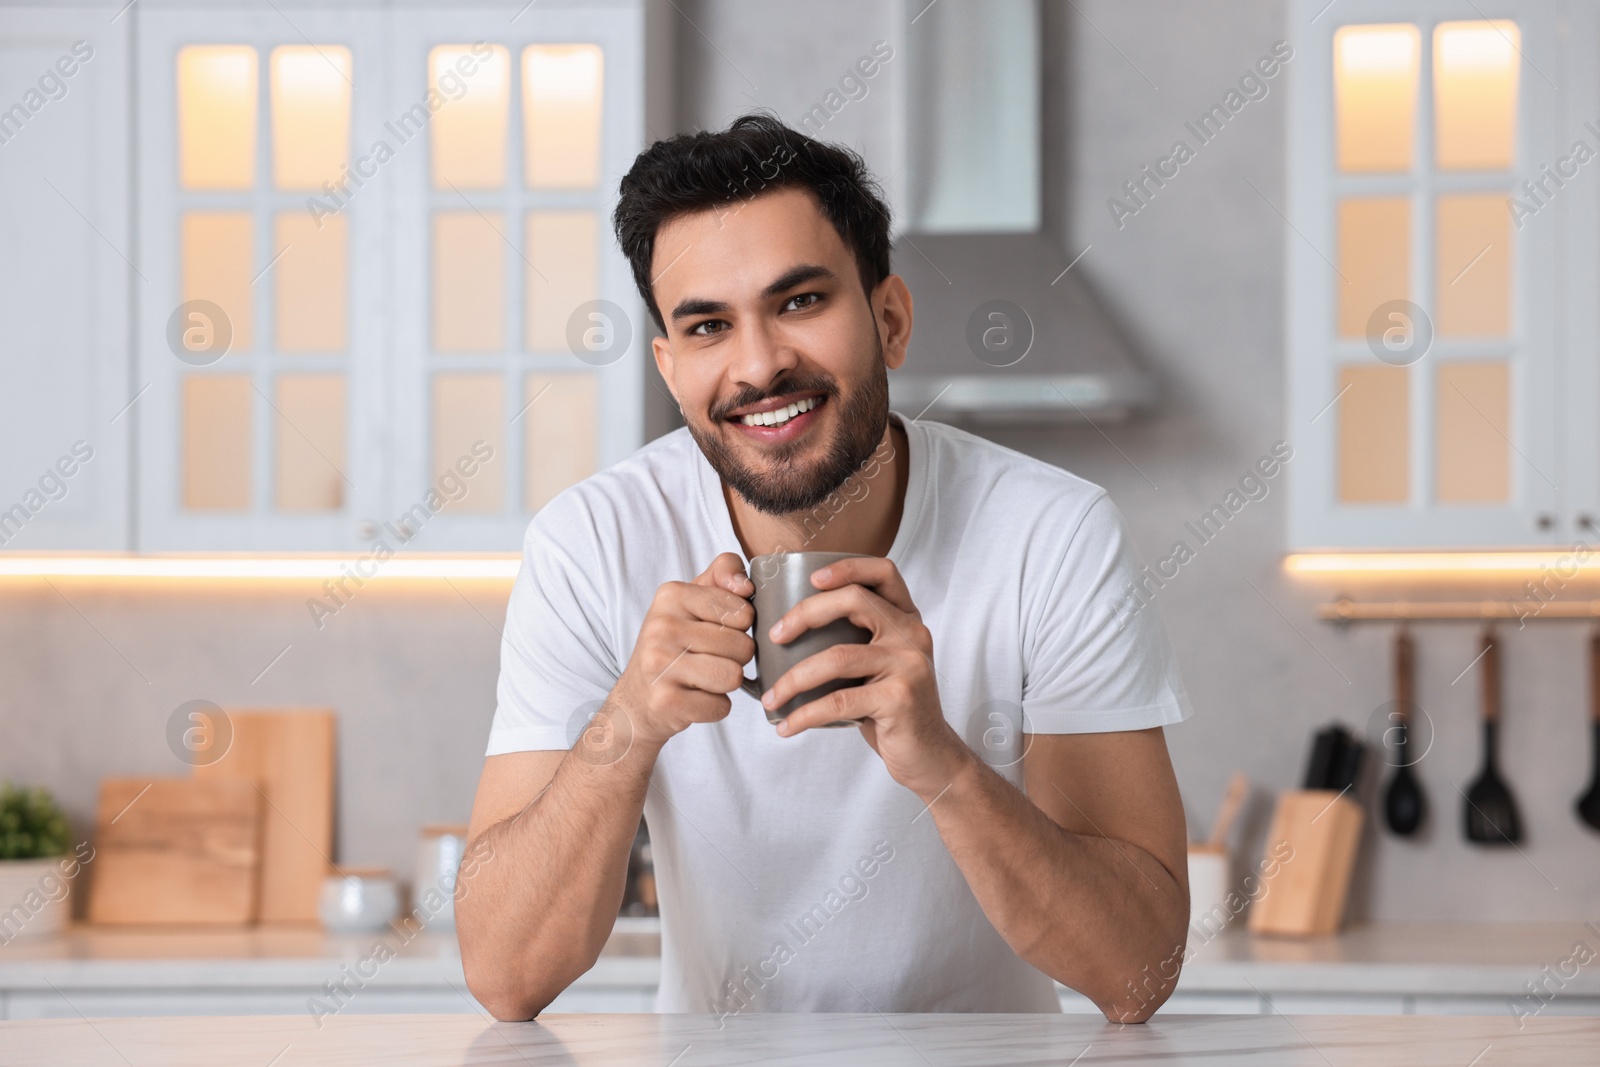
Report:
[[[949,787],[923,800],[989,921],[1109,1019],[1149,1017],[1182,963],[1182,886],[1136,845],[1064,830],[968,755]]]

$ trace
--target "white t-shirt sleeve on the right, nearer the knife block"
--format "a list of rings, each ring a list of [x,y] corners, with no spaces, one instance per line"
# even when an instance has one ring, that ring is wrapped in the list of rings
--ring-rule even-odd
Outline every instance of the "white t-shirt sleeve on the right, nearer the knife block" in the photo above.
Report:
[[[1102,733],[1189,718],[1160,609],[1150,593],[1134,595],[1146,576],[1110,498],[1098,496],[1066,550],[1051,555],[1054,574],[1024,641],[1024,729]]]

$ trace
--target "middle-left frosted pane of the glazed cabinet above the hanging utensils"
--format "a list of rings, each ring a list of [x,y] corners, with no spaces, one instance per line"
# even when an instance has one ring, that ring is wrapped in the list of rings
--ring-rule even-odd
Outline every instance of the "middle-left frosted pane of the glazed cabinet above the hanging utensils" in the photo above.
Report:
[[[1341,277],[1342,275],[1342,277]],[[1411,205],[1405,197],[1339,202],[1339,336],[1363,338],[1379,304],[1411,291]]]

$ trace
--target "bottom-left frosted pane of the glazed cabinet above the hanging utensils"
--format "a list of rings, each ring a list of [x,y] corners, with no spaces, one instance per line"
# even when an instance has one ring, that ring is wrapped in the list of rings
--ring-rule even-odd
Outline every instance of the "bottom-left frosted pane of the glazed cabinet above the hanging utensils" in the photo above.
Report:
[[[1402,504],[1411,494],[1411,374],[1339,368],[1339,502]]]

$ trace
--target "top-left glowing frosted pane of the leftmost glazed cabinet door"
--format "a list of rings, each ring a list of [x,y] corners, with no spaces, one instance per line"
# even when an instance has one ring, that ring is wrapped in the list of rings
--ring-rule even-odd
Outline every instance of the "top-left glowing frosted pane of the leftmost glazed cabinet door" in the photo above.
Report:
[[[190,45],[178,53],[178,174],[184,189],[256,184],[256,50]]]

